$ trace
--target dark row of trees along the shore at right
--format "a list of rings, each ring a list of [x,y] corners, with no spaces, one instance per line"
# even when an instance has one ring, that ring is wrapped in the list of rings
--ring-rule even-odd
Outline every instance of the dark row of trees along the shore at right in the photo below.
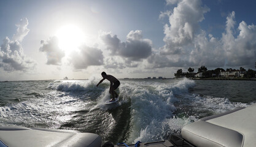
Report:
[[[255,62],[255,68],[256,68],[256,62]],[[211,77],[221,77],[220,72],[233,72],[233,71],[239,71],[242,74],[242,77],[236,77],[236,78],[255,78],[256,71],[252,69],[244,69],[243,67],[240,67],[240,69],[222,69],[217,68],[214,70],[208,70],[207,67],[201,66],[198,68],[198,72],[194,72],[195,69],[192,69],[191,67],[188,68],[187,72],[183,72],[182,69],[178,69],[177,72],[174,74],[176,78],[193,78],[196,74],[201,74],[200,78],[211,78]]]

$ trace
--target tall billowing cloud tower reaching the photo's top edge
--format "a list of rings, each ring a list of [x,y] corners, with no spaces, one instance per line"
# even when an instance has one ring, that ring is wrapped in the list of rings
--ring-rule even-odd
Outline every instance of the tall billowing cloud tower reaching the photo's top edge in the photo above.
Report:
[[[163,54],[182,54],[182,46],[192,43],[195,33],[200,29],[198,24],[204,20],[204,13],[209,8],[201,6],[201,1],[184,0],[177,4],[169,17],[169,25],[164,27],[164,41],[166,45],[161,48]]]

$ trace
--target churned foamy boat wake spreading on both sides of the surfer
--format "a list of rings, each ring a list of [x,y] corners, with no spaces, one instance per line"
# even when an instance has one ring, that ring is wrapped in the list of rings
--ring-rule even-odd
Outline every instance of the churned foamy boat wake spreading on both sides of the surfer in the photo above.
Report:
[[[123,126],[117,123],[125,122],[127,127],[120,134],[125,136],[122,141],[135,143],[165,140],[201,116],[247,106],[225,97],[193,94],[189,89],[196,85],[195,81],[187,78],[120,80],[121,85],[117,89],[119,101],[116,105],[107,106],[104,103],[111,97],[109,81],[96,87],[99,80],[90,78],[46,83],[45,87],[40,86],[45,92],[28,92],[29,96],[34,96],[33,99],[0,107],[0,125],[53,129],[64,126],[68,129],[82,128],[85,132],[91,129],[95,133],[104,130],[100,133],[106,137],[111,132],[115,134],[115,130],[121,131]]]

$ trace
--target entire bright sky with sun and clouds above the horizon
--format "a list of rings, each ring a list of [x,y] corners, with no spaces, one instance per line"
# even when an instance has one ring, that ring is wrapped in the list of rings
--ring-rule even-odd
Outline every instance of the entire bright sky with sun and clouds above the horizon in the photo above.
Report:
[[[0,81],[254,69],[254,0],[0,1]]]

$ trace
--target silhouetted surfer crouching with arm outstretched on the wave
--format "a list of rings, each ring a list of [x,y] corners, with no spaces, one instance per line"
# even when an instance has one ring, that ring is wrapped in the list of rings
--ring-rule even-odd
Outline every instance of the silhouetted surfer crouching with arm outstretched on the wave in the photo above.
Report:
[[[96,86],[98,87],[99,84],[102,83],[105,79],[109,80],[111,82],[109,93],[112,95],[112,99],[110,100],[110,102],[112,102],[115,100],[115,98],[118,97],[118,94],[117,92],[115,92],[115,89],[117,89],[118,86],[120,85],[120,81],[118,81],[117,78],[115,78],[113,75],[107,75],[106,72],[102,72],[101,76],[103,77],[103,79],[99,81],[98,85]]]

